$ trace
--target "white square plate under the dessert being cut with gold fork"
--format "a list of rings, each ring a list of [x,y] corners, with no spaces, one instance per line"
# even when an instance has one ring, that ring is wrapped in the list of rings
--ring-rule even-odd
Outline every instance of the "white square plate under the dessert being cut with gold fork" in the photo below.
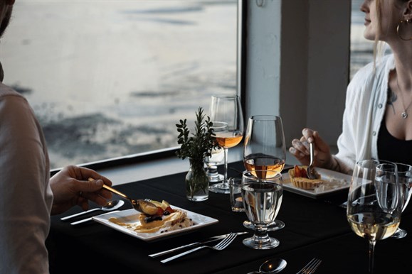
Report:
[[[181,209],[179,207],[174,207],[174,206],[171,206],[171,208]],[[143,241],[153,241],[153,240],[161,239],[166,236],[180,234],[185,231],[200,229],[203,226],[209,226],[211,224],[218,223],[218,219],[213,219],[211,217],[207,217],[201,214],[190,212],[189,210],[186,210],[186,209],[181,209],[181,210],[184,210],[185,212],[187,212],[187,217],[189,217],[192,221],[194,221],[194,226],[189,226],[183,229],[176,229],[172,231],[165,231],[163,233],[161,233],[160,231],[156,231],[153,233],[139,233],[139,232],[133,231],[131,229],[127,229],[124,226],[120,226],[118,224],[115,224],[109,221],[110,218],[115,217],[119,221],[122,221],[123,223],[126,223],[126,224],[139,224],[139,214],[140,213],[134,209],[126,209],[120,212],[110,212],[110,213],[102,214],[102,215],[93,217],[93,220],[99,222],[100,224],[104,224],[105,226],[109,226],[112,229],[116,229],[117,231],[123,232],[125,234],[136,237],[138,239],[142,239]]]

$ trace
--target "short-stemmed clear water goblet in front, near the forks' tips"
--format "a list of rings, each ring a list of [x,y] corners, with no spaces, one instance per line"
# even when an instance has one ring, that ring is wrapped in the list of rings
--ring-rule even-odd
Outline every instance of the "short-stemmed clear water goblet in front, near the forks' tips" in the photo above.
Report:
[[[256,170],[263,172],[263,170]],[[255,226],[252,237],[243,244],[255,249],[270,249],[279,246],[279,240],[268,235],[268,226],[273,223],[282,204],[282,175],[257,178],[250,172],[243,172],[242,199],[245,213]]]

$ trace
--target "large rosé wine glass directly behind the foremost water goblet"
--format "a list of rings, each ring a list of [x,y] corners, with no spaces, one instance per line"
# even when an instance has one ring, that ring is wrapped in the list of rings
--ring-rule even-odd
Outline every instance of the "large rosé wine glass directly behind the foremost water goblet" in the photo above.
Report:
[[[285,167],[286,145],[282,119],[279,116],[257,115],[248,119],[243,146],[245,169],[260,179],[275,176]],[[261,170],[256,172],[256,170]],[[254,229],[250,221],[243,225]],[[273,221],[269,231],[282,229],[285,223]]]

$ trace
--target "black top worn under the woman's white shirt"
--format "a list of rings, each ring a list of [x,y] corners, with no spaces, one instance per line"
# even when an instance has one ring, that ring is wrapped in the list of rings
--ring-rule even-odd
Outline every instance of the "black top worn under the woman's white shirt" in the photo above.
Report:
[[[412,165],[412,140],[399,140],[389,133],[385,119],[382,119],[378,136],[378,156],[380,160]]]

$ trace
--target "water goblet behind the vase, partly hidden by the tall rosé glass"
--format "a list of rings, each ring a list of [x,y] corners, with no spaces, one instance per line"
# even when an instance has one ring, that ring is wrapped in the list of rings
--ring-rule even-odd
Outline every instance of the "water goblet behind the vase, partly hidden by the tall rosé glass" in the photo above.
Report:
[[[228,124],[215,122],[211,128],[213,128],[213,133],[216,134],[216,132],[227,131]],[[209,182],[215,183],[223,181],[224,177],[218,172],[217,164],[221,163],[224,157],[225,152],[223,148],[213,148],[211,156],[204,159],[206,163],[206,175],[208,176]]]

